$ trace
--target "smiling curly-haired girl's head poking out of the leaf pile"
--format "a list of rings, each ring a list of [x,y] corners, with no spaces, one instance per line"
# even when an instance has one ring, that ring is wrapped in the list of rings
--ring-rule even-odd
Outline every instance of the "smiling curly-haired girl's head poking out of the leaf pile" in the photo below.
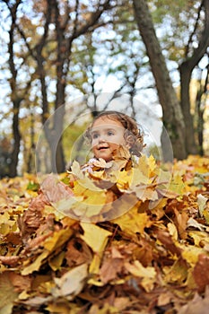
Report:
[[[83,166],[83,170],[91,170],[92,163],[97,160],[116,159],[121,154],[121,147],[129,151],[128,158],[132,155],[140,157],[144,147],[144,135],[135,119],[118,111],[102,111],[94,118],[84,137],[91,144],[94,158]]]

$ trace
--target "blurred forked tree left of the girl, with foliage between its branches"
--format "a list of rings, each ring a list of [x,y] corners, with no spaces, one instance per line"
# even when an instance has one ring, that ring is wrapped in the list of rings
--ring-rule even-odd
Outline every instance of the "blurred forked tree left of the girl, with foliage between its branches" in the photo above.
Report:
[[[27,33],[22,32],[29,53],[37,62],[37,74],[41,84],[42,95],[42,124],[51,151],[52,171],[65,170],[65,156],[62,144],[63,119],[65,115],[65,87],[70,60],[72,58],[72,44],[74,39],[96,27],[100,16],[105,10],[109,10],[110,1],[103,4],[86,6],[79,1],[74,4],[59,2],[57,0],[42,1],[42,35],[34,45],[29,44]],[[34,3],[34,9],[39,13],[39,7]],[[40,25],[39,25],[40,27]],[[48,105],[48,59],[54,67],[55,76],[55,100],[54,117],[52,125],[49,125]],[[50,75],[50,74],[49,74]]]

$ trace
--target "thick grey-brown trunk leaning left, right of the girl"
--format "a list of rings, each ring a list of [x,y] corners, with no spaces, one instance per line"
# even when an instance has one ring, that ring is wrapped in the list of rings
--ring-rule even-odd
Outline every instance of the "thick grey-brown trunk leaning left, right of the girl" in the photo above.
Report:
[[[170,80],[169,71],[161,53],[159,40],[157,39],[154,31],[151,13],[149,12],[149,8],[145,0],[133,0],[133,4],[135,20],[142,39],[144,40],[147,55],[150,59],[152,74],[155,79],[162,107],[163,125],[170,136],[174,157],[177,159],[185,159],[187,157],[187,153],[184,118],[179,105],[179,100]],[[168,147],[163,144],[163,139],[162,153],[165,161],[167,161],[168,158],[170,159],[170,157],[168,157]],[[169,154],[169,156],[171,156],[171,154]]]

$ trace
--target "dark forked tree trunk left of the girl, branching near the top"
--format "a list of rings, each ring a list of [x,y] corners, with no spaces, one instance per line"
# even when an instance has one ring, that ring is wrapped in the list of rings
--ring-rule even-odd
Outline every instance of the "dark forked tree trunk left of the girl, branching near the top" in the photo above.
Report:
[[[71,49],[74,39],[83,35],[92,26],[94,26],[100,19],[100,15],[110,9],[109,0],[100,4],[95,12],[88,14],[88,18],[80,23],[78,20],[79,15],[79,2],[75,5],[75,20],[71,20],[70,4],[66,2],[65,10],[66,14],[60,12],[60,6],[57,0],[48,0],[48,8],[46,13],[46,21],[44,27],[44,34],[39,40],[39,44],[36,45],[35,54],[31,49],[32,56],[36,59],[38,64],[38,74],[41,84],[42,94],[42,124],[44,132],[49,144],[51,152],[51,164],[53,172],[65,171],[65,155],[62,144],[63,133],[63,119],[65,114],[65,87],[66,77],[69,71],[71,60]],[[55,91],[56,100],[54,102],[54,114],[49,119],[52,123],[48,123],[49,105],[48,105],[48,86],[47,86],[47,73],[45,71],[45,59],[43,54],[43,48],[48,44],[48,37],[50,36],[49,24],[55,24],[54,35],[57,42],[56,51],[56,73],[57,73],[57,88]],[[71,24],[71,27],[70,27]]]

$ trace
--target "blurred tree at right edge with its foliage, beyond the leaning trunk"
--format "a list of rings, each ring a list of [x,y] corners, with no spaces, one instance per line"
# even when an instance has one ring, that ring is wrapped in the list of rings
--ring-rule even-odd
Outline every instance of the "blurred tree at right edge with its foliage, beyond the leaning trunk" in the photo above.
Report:
[[[161,32],[158,31],[161,50],[166,57],[167,65],[169,65],[169,61],[171,62],[170,75],[176,86],[177,80],[174,79],[174,74],[179,80],[179,102],[186,125],[187,154],[201,151],[203,153],[203,143],[201,144],[201,140],[199,142],[198,136],[196,136],[196,127],[198,127],[198,132],[203,134],[205,122],[201,122],[201,115],[204,116],[205,106],[203,103],[207,94],[204,85],[208,81],[209,2],[203,0],[177,0],[175,2],[156,0],[149,1],[149,4],[155,28],[159,30],[159,26],[165,25]],[[177,71],[175,71],[175,67]],[[201,74],[203,88],[201,93],[202,113],[199,115],[200,123],[197,126],[199,118],[196,116],[197,109],[194,109],[191,97],[194,96],[193,80],[199,80],[199,74]],[[196,90],[196,99],[199,96],[200,94]],[[196,100],[197,102],[198,100]]]

